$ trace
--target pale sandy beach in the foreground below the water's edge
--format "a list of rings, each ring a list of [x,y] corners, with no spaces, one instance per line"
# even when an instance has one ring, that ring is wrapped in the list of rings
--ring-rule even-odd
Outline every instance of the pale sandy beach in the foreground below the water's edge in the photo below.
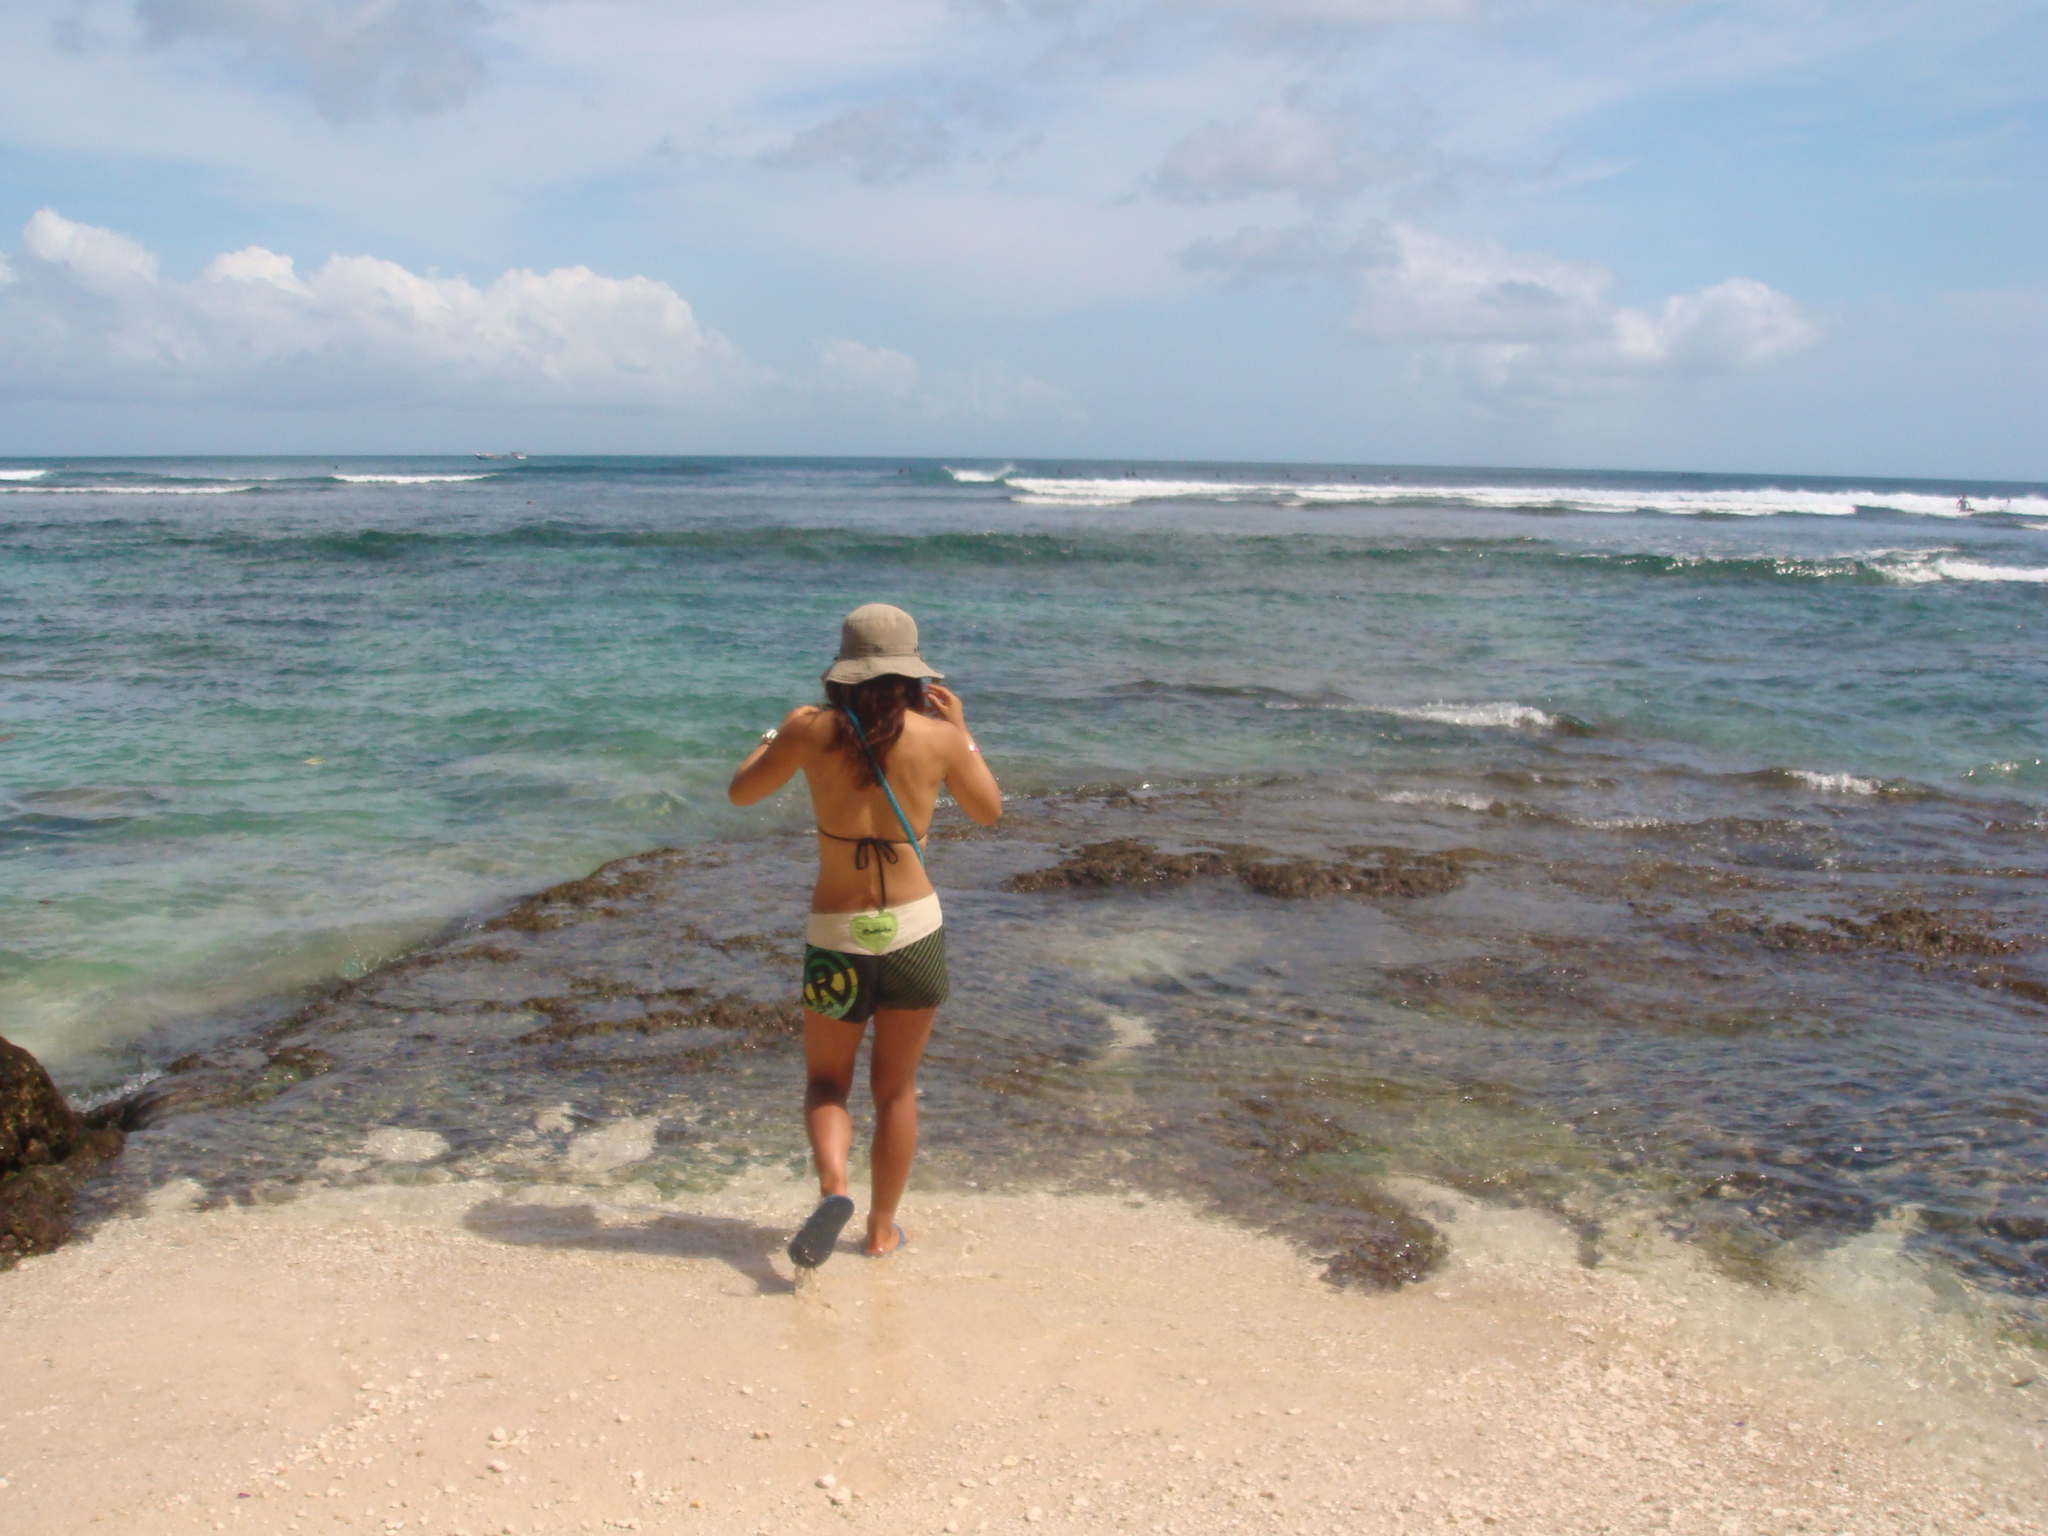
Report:
[[[1393,1296],[975,1194],[793,1292],[768,1176],[121,1221],[0,1276],[0,1532],[2048,1530],[2036,1356],[1896,1239],[1765,1292],[1407,1194],[1452,1262]]]

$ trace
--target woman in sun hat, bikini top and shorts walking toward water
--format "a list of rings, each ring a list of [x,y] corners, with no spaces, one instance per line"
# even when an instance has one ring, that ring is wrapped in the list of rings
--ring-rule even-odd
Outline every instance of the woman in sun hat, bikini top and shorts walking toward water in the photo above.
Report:
[[[762,731],[727,791],[733,805],[754,805],[801,768],[817,823],[803,950],[803,1128],[823,1202],[788,1245],[803,1268],[831,1255],[854,1214],[846,1100],[868,1020],[874,1151],[860,1251],[879,1260],[907,1241],[895,1212],[918,1151],[918,1063],[946,1001],[946,930],[924,872],[924,834],[940,791],[985,827],[1004,813],[995,774],[967,733],[958,696],[938,686],[942,676],[918,653],[907,612],[885,602],[854,608],[840,627],[840,659],[825,672],[827,705],[793,709]]]

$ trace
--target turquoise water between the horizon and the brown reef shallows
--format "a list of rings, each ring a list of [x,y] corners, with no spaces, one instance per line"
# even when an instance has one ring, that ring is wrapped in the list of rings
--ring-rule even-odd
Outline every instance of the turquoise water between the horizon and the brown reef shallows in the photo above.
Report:
[[[0,1018],[80,1092],[604,858],[797,823],[721,786],[866,600],[918,614],[1012,793],[1462,784],[1597,741],[1622,811],[1673,772],[1763,770],[1839,801],[1989,797],[2005,821],[2048,805],[2040,485],[0,473]]]

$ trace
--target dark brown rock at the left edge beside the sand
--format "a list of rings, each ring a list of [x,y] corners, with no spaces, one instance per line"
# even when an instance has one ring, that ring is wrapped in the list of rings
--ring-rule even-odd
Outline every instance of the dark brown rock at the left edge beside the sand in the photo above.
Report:
[[[121,1130],[80,1120],[43,1063],[0,1038],[0,1270],[70,1237],[78,1182],[119,1151]]]

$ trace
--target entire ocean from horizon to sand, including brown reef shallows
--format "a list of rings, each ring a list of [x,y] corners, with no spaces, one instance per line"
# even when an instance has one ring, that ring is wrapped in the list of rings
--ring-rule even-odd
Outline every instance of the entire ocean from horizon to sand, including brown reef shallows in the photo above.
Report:
[[[924,1176],[1194,1192],[1368,1282],[1432,1257],[1399,1174],[1759,1282],[1892,1231],[2038,1317],[2011,483],[8,461],[0,1032],[162,1096],[104,1208],[555,1178],[549,1124],[662,1190],[799,1165],[807,809],[723,784],[870,600],[1012,799],[940,821]]]

